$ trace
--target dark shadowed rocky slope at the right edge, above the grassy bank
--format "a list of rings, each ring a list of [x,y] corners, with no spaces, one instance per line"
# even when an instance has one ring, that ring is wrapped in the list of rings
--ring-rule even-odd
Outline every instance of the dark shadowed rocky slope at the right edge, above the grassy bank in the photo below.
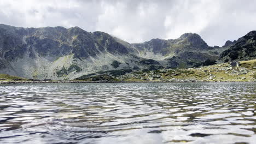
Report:
[[[254,58],[256,58],[256,31],[239,38],[235,44],[219,56],[222,62],[247,61]]]

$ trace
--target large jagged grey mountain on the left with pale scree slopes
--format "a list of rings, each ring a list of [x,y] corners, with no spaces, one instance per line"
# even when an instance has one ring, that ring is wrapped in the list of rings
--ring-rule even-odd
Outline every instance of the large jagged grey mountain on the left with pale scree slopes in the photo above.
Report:
[[[125,63],[132,53],[131,46],[103,32],[0,25],[0,73],[31,79],[74,79],[112,69],[114,60]]]

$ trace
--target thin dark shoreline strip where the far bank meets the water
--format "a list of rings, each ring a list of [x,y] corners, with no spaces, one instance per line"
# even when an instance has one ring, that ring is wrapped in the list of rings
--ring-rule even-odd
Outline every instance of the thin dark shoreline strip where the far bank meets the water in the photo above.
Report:
[[[0,81],[1,84],[22,83],[209,83],[209,82],[256,82],[256,81]]]

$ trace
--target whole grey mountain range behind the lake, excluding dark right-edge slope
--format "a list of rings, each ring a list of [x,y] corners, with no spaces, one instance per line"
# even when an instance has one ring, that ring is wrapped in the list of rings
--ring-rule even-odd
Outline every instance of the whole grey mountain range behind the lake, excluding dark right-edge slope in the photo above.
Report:
[[[79,27],[0,25],[0,73],[64,80],[99,71],[179,67],[181,64],[194,67],[206,59],[216,60],[222,51],[236,45],[230,42],[223,47],[211,47],[198,34],[185,33],[178,39],[129,44],[107,33],[86,32]]]

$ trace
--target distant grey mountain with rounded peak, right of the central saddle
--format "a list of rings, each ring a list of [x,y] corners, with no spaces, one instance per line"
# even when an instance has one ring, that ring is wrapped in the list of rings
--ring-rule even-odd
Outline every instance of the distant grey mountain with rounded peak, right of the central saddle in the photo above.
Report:
[[[167,67],[171,68],[180,64],[185,67],[199,66],[206,59],[217,59],[219,52],[225,49],[225,47],[208,46],[200,35],[193,33],[185,33],[178,39],[152,39],[133,46],[144,54],[141,54],[141,57],[164,60]]]

